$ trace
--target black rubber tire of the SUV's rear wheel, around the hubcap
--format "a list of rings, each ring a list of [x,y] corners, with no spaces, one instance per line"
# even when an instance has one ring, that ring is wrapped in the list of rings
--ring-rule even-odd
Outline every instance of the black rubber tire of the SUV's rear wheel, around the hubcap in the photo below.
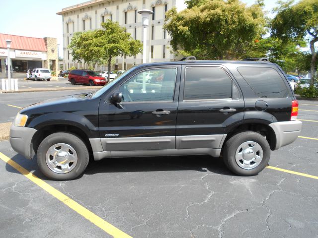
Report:
[[[236,153],[242,143],[253,141],[260,145],[263,156],[255,168],[244,169],[236,161]],[[248,152],[249,153],[249,152]],[[223,148],[223,160],[225,165],[235,174],[240,176],[254,176],[261,172],[268,164],[270,158],[270,146],[261,134],[254,131],[243,131],[233,135]]]

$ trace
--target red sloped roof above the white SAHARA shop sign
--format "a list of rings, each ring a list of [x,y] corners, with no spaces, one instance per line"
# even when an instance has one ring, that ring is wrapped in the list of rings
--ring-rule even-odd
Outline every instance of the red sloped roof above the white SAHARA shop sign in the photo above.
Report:
[[[47,51],[44,39],[0,34],[0,48],[6,48],[4,40],[11,40],[11,49],[25,51]]]

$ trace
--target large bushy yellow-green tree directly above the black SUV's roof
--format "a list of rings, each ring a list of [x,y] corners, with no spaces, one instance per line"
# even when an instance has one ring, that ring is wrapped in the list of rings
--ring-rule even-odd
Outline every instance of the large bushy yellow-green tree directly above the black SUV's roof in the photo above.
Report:
[[[238,59],[265,33],[262,0],[250,7],[239,0],[188,0],[187,9],[166,13],[164,28],[174,51],[198,59]]]

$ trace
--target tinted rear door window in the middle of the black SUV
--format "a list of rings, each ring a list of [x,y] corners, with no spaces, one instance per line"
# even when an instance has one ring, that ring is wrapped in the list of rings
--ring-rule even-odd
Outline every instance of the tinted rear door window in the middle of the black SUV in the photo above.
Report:
[[[184,100],[232,98],[232,80],[219,67],[187,67]]]

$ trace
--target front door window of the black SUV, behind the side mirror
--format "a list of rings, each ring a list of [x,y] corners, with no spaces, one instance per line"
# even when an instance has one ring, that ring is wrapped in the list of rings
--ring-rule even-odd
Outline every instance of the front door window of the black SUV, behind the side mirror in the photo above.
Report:
[[[124,102],[172,101],[176,68],[151,69],[131,77],[119,91]]]

